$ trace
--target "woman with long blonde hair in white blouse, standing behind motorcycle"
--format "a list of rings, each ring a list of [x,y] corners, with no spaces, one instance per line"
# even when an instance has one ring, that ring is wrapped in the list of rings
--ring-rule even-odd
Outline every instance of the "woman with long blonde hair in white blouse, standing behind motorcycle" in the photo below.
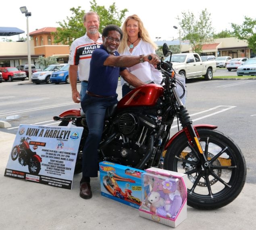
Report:
[[[137,56],[156,53],[157,45],[150,39],[148,31],[144,28],[142,21],[136,14],[125,19],[122,31],[123,39],[118,48],[120,55]],[[154,82],[160,84],[162,82],[162,74],[148,62],[139,63],[127,68],[127,70],[145,83]],[[121,78],[121,85],[123,97],[133,89],[123,78]]]

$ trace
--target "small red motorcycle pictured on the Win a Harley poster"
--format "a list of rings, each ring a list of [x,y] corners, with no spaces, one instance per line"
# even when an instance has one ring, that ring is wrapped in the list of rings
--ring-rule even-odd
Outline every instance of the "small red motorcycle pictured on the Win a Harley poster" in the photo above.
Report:
[[[28,140],[31,140],[31,138],[21,138],[21,143],[12,148],[11,158],[12,160],[16,160],[19,156],[19,163],[22,166],[27,165],[29,167],[29,173],[37,175],[41,170],[40,162],[42,162],[42,158],[29,148]]]

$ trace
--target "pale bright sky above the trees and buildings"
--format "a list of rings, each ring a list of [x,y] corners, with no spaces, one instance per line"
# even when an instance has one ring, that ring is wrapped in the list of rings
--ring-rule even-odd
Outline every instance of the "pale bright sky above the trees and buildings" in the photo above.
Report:
[[[85,12],[90,10],[90,0],[73,0],[73,1],[32,1],[32,0],[10,0],[4,1],[4,8],[0,13],[0,27],[17,27],[25,33],[19,35],[26,37],[27,35],[27,18],[20,11],[21,6],[26,6],[31,12],[29,17],[29,33],[43,27],[58,27],[58,21],[63,22],[67,16],[70,17],[70,8],[81,6]],[[210,13],[212,27],[214,33],[219,33],[225,29],[231,30],[231,23],[242,25],[244,16],[250,18],[255,17],[255,7],[243,6],[234,2],[223,0],[96,0],[98,6],[105,6],[106,9],[115,2],[118,10],[128,9],[126,17],[131,14],[137,14],[144,23],[144,27],[148,30],[153,41],[156,40],[173,40],[179,38],[179,21],[177,17],[182,18],[182,12],[192,12],[195,16],[199,16],[202,10],[206,9]],[[82,20],[82,19],[81,19]],[[178,29],[174,29],[177,26]],[[158,39],[156,39],[158,37]],[[159,38],[160,37],[160,38]],[[3,37],[0,37],[2,41]],[[16,41],[18,35],[4,37]]]

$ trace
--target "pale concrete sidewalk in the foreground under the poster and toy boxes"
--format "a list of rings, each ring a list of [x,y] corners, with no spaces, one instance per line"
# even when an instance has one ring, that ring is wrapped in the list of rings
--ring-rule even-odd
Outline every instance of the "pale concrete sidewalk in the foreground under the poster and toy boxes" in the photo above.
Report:
[[[0,132],[0,228],[155,230],[171,227],[139,217],[138,209],[100,195],[100,181],[92,179],[93,197],[79,197],[81,175],[73,189],[60,189],[4,177],[15,135]],[[212,211],[187,208],[187,219],[176,229],[248,230],[256,226],[256,185],[246,183],[229,205]]]

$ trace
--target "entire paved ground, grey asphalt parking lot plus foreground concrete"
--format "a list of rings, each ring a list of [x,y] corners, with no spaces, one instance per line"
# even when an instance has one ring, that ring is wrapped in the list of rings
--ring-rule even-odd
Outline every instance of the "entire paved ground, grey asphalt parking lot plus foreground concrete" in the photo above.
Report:
[[[255,86],[256,80],[187,81],[186,107],[194,124],[218,125],[219,131],[237,143],[246,159],[247,178],[243,191],[231,204],[212,211],[188,207],[187,219],[177,229],[223,229],[223,226],[232,230],[255,228]],[[120,89],[119,86],[119,97]],[[69,84],[0,84],[0,120],[11,124],[10,128],[0,129],[2,175],[19,124],[58,125],[52,120],[54,115],[79,107],[79,104],[73,103],[70,91]],[[171,131],[177,132],[177,124],[173,125]],[[139,217],[137,209],[102,197],[99,179],[92,180],[93,198],[88,201],[81,199],[79,180],[80,175],[75,175],[73,189],[67,190],[0,177],[2,228],[169,229]]]

